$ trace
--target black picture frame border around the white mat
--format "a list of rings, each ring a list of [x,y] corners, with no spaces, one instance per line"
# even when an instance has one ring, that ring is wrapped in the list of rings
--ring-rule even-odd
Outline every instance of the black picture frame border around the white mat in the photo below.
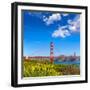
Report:
[[[47,82],[47,83],[32,83],[32,84],[18,84],[18,6],[44,6],[55,8],[74,8],[85,10],[85,80],[64,81],[64,82]],[[25,3],[14,2],[11,4],[11,86],[42,86],[42,85],[58,85],[58,84],[74,84],[74,83],[88,83],[88,7],[87,6],[73,6],[73,5],[59,5],[59,4],[43,4],[43,3]]]

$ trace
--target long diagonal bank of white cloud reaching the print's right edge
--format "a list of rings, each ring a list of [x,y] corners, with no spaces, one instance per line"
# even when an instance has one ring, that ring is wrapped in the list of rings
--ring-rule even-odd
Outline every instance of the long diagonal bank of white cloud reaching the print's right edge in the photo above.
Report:
[[[70,36],[72,32],[78,32],[80,30],[80,16],[77,15],[73,20],[68,20],[67,25],[59,26],[57,30],[52,33],[52,37],[62,37],[65,38]]]

